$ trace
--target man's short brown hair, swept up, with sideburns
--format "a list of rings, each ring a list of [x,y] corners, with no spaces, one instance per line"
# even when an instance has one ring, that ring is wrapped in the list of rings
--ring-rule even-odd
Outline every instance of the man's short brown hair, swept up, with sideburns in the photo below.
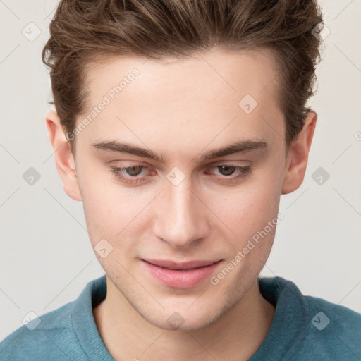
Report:
[[[50,68],[66,132],[87,107],[87,66],[106,56],[183,59],[214,47],[271,49],[286,146],[302,129],[313,95],[322,23],[316,0],[61,0],[42,61]],[[74,152],[75,145],[71,141]]]

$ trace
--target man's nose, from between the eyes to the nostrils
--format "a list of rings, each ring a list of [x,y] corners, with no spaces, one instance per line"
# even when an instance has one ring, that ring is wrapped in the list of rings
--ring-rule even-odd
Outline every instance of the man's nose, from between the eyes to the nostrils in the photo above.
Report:
[[[207,237],[209,211],[202,197],[192,189],[188,177],[178,185],[166,183],[157,198],[154,233],[158,238],[173,247],[188,247]]]

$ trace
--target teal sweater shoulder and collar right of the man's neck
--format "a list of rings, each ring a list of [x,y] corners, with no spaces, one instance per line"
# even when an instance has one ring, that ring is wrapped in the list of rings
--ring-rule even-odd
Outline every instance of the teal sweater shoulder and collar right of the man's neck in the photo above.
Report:
[[[361,360],[360,313],[303,295],[295,283],[279,276],[259,279],[259,289],[276,307],[262,356],[276,350],[269,360]]]

